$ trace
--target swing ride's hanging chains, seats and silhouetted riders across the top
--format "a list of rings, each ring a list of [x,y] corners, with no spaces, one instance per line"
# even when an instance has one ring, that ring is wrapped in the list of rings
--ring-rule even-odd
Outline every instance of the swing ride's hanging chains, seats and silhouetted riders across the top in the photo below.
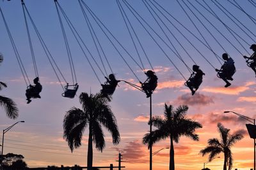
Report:
[[[157,31],[156,31],[156,27],[155,26],[152,27],[152,24],[147,22],[145,18],[141,16],[140,12],[134,9],[131,3],[129,3],[126,0],[116,0],[118,10],[120,11],[120,15],[124,20],[124,25],[127,29],[128,35],[131,38],[134,52],[136,52],[136,55],[138,57],[138,59],[136,59],[131,54],[131,52],[129,52],[129,50],[125,48],[122,42],[119,41],[118,38],[114,36],[113,32],[109,31],[108,27],[106,27],[106,25],[102,22],[102,20],[100,20],[99,17],[95,15],[95,13],[90,9],[90,7],[86,3],[84,3],[83,0],[78,0],[81,11],[83,12],[84,21],[88,27],[88,30],[90,31],[90,36],[92,37],[93,45],[97,50],[97,55],[93,54],[91,52],[91,49],[86,44],[86,41],[84,41],[84,39],[82,38],[81,33],[79,33],[76,27],[74,26],[74,24],[72,24],[70,18],[68,17],[67,13],[65,13],[60,3],[58,3],[57,0],[54,0],[58,20],[60,22],[61,32],[63,35],[63,40],[65,43],[65,48],[67,51],[67,57],[68,57],[68,62],[70,66],[70,73],[72,76],[72,83],[68,83],[68,81],[66,81],[66,78],[63,76],[63,73],[61,73],[60,68],[56,64],[56,61],[52,57],[51,52],[49,51],[49,48],[47,48],[47,45],[45,44],[44,39],[42,38],[40,32],[38,31],[35,25],[35,22],[32,19],[28,11],[28,8],[26,7],[26,4],[24,3],[23,0],[21,0],[22,10],[24,15],[24,22],[26,25],[26,32],[28,36],[29,48],[31,52],[31,57],[32,57],[33,67],[34,67],[35,77],[36,77],[35,78],[36,81],[34,80],[34,83],[36,82],[35,85],[31,85],[29,81],[29,76],[24,67],[24,64],[22,63],[22,59],[17,50],[17,46],[15,45],[15,42],[12,38],[10,28],[8,27],[6,19],[4,18],[3,11],[1,10],[1,15],[4,21],[4,25],[6,27],[8,36],[12,43],[13,51],[17,58],[20,71],[28,87],[28,89],[26,90],[28,103],[31,102],[30,100],[31,98],[40,98],[39,94],[42,91],[42,85],[40,84],[40,81],[39,81],[40,76],[38,74],[38,66],[36,64],[36,57],[35,57],[36,54],[35,54],[35,50],[33,48],[33,42],[32,42],[34,40],[33,40],[33,37],[31,37],[30,29],[33,29],[35,31],[36,37],[38,38],[38,41],[40,42],[40,45],[42,46],[45,52],[45,55],[49,60],[54,73],[56,74],[58,81],[60,82],[60,85],[63,89],[62,96],[68,97],[68,98],[74,98],[76,96],[76,92],[79,89],[79,85],[77,83],[76,67],[74,66],[72,50],[70,49],[70,45],[69,45],[70,40],[67,38],[67,29],[69,29],[69,31],[72,32],[74,39],[76,39],[77,41],[77,45],[79,46],[79,48],[81,48],[81,51],[83,52],[86,61],[88,62],[88,64],[90,64],[90,67],[92,68],[92,71],[95,74],[97,80],[99,80],[99,83],[102,87],[102,90],[100,90],[102,95],[105,95],[105,96],[113,95],[120,81],[123,81],[128,85],[131,85],[132,87],[135,87],[141,92],[144,92],[146,94],[146,97],[150,97],[152,95],[154,90],[157,88],[158,78],[156,76],[156,72],[154,71],[154,67],[152,66],[152,63],[150,62],[150,57],[148,57],[148,52],[147,50],[145,50],[146,45],[143,44],[140,34],[138,34],[138,31],[136,31],[136,27],[134,27],[134,24],[132,23],[134,22],[134,20],[136,20],[141,25],[141,28],[148,34],[148,36],[152,39],[152,41],[155,43],[157,48],[159,48],[159,50],[163,52],[163,55],[166,57],[166,59],[172,64],[173,67],[175,67],[175,69],[179,72],[182,78],[184,78],[185,80],[184,85],[191,90],[192,95],[194,95],[195,92],[198,89],[200,89],[200,85],[203,82],[203,76],[205,75],[205,73],[201,69],[199,69],[200,67],[199,64],[195,61],[195,59],[193,59],[195,58],[193,57],[193,55],[195,54],[190,53],[188,51],[188,48],[185,47],[186,45],[184,45],[184,42],[182,42],[178,37],[184,38],[184,40],[186,40],[186,43],[190,45],[191,48],[193,48],[195,52],[197,52],[214,69],[214,71],[218,72],[217,77],[221,78],[223,81],[226,82],[225,87],[229,87],[231,85],[231,83],[228,80],[231,80],[231,81],[233,80],[232,76],[234,75],[234,73],[236,73],[236,67],[234,66],[234,60],[231,57],[228,57],[227,50],[225,50],[223,42],[221,42],[217,38],[216,33],[214,33],[213,31],[216,31],[219,34],[218,36],[221,36],[223,39],[225,39],[239,54],[241,54],[244,57],[244,59],[246,59],[247,66],[251,67],[256,74],[256,64],[255,64],[256,63],[255,62],[256,45],[253,44],[255,42],[254,39],[256,38],[256,35],[252,31],[250,31],[250,29],[248,29],[248,27],[246,27],[246,25],[244,25],[243,22],[241,22],[241,20],[237,19],[234,16],[234,14],[230,10],[225,8],[220,2],[211,0],[211,3],[214,6],[216,6],[216,8],[218,8],[223,13],[223,15],[229,18],[230,22],[235,24],[237,29],[244,32],[244,35],[252,41],[251,47],[250,47],[253,50],[252,55],[250,55],[250,53],[246,49],[246,46],[244,46],[244,44],[250,45],[250,43],[248,43],[248,41],[246,41],[245,38],[243,38],[243,36],[241,36],[240,34],[237,34],[237,32],[235,31],[236,29],[230,27],[227,24],[227,22],[224,22],[221,19],[220,14],[216,13],[216,11],[214,11],[214,9],[211,6],[209,6],[209,4],[206,3],[204,0],[203,1],[195,0],[195,3],[191,3],[190,1],[184,1],[184,0],[181,0],[181,1],[176,0],[176,1],[179,4],[182,11],[184,11],[184,13],[186,14],[186,17],[189,19],[189,22],[191,22],[196,32],[191,31],[191,29],[189,29],[184,24],[182,24],[182,22],[177,20],[177,18],[173,17],[173,15],[168,10],[166,10],[166,8],[161,6],[161,4],[159,4],[156,0],[148,0],[148,1],[142,0],[142,3],[145,6],[145,9],[147,9],[152,19],[154,20],[157,27],[159,28],[159,30]],[[256,23],[255,18],[253,18],[248,13],[246,13],[246,11],[241,6],[239,6],[239,4],[237,4],[236,2],[232,3],[231,1],[228,1],[228,2],[231,5],[235,6],[237,10],[242,11],[248,18],[250,18],[250,20],[252,20],[254,24]],[[250,3],[252,2],[250,1]],[[239,48],[236,45],[234,45],[234,42],[230,41],[230,39],[227,38],[227,35],[225,35],[215,24],[212,24],[211,20],[205,17],[204,13],[202,13],[202,11],[199,10],[199,7],[196,6],[196,4],[198,4],[200,8],[204,9],[209,15],[216,18],[216,20],[218,20],[220,24],[223,25],[225,29],[229,32],[230,36],[234,38],[234,40],[238,43],[238,45],[241,48],[243,48],[243,50],[246,53],[250,55],[250,57],[246,57],[246,55],[243,55],[243,53],[239,50]],[[133,17],[133,19],[131,19],[131,17]],[[64,22],[66,23],[67,27],[65,27]],[[196,22],[198,24],[196,24]],[[178,25],[179,27],[182,27],[183,32],[178,27]],[[211,29],[209,27],[211,27]],[[210,45],[209,41],[207,41],[207,35],[203,33],[203,29],[207,32],[207,34],[209,34],[209,36],[211,36],[211,38],[215,41],[215,43],[218,46],[220,46],[220,48],[223,50],[224,53],[222,58],[218,56],[216,50],[214,50],[212,48],[212,45]],[[134,76],[136,77],[140,85],[138,85],[138,83],[131,83],[125,80],[116,80],[115,74],[113,73],[113,69],[111,68],[111,65],[108,60],[108,57],[107,57],[108,55],[106,54],[106,50],[104,50],[104,46],[99,39],[99,32],[97,32],[96,30],[101,31],[104,34],[104,36],[106,36],[106,39],[108,39],[109,44],[113,46],[113,48],[118,53],[119,57],[122,60],[124,60],[124,63],[127,65],[127,67],[129,67],[132,74],[134,74]],[[175,34],[173,30],[177,31],[179,35],[177,35],[177,33]],[[193,40],[189,39],[188,36],[186,36],[184,31],[186,32],[186,34],[189,34],[189,36],[192,36],[194,39]],[[196,34],[199,34],[200,36],[196,36]],[[216,66],[214,66],[214,63],[211,62],[209,59],[207,59],[207,57],[205,57],[205,55],[201,52],[201,50],[195,45],[194,41],[197,41],[198,43],[200,43],[200,45],[205,46],[205,48],[207,48],[207,50],[209,50],[212,53],[212,55],[221,64],[220,69],[217,69]],[[188,62],[186,62],[186,59],[185,59],[186,55],[182,53],[185,53],[188,56],[189,60],[191,60],[191,62],[193,63],[192,69],[189,66]],[[95,59],[95,56],[99,57],[101,66]],[[147,66],[145,67],[145,62],[143,61],[143,57],[145,57],[145,59],[147,60],[148,62],[147,66],[149,66],[150,69],[147,69],[146,68]],[[176,57],[177,59],[174,59],[174,57]],[[131,61],[134,62],[134,64],[137,67],[139,67],[141,71],[143,71],[143,73],[146,74],[147,80],[145,80],[145,82],[142,83],[140,81],[140,79],[138,78],[138,75],[134,72],[134,70],[131,67],[131,64],[129,64],[127,59],[131,59]],[[186,78],[186,76],[184,76],[184,74],[180,70],[180,67],[177,66],[174,60],[176,60],[176,62],[177,60],[179,60],[182,64],[184,64],[184,66],[186,67],[186,69],[188,69],[188,72],[190,73],[189,78]],[[224,61],[224,64],[222,64],[223,61]],[[96,67],[93,65],[95,65]],[[108,65],[108,67],[106,67],[106,65]],[[98,71],[102,74],[104,78],[106,78],[106,81],[104,83],[100,81],[101,78],[97,74]],[[65,87],[63,87],[63,82],[66,83]],[[34,87],[36,87],[36,85],[38,84],[41,87],[37,88],[38,90],[35,90]]]

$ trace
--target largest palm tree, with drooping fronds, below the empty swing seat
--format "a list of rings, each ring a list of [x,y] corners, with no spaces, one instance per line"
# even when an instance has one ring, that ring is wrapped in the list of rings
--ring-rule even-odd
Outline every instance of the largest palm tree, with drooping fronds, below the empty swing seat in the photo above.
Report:
[[[108,105],[111,98],[102,96],[102,94],[81,93],[79,101],[82,104],[83,110],[79,108],[71,108],[67,111],[63,120],[63,138],[68,142],[71,152],[74,148],[81,146],[83,132],[88,127],[88,155],[87,167],[92,170],[93,162],[93,142],[97,150],[105,148],[104,132],[102,126],[106,127],[112,135],[113,144],[117,145],[120,142],[120,134],[116,123],[116,118]]]

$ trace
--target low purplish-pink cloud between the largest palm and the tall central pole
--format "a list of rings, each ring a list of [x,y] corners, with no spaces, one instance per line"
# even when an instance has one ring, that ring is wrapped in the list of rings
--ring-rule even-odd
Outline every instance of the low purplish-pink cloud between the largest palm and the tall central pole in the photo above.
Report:
[[[143,145],[141,141],[135,140],[128,142],[121,152],[128,162],[147,163],[148,160],[144,159],[144,157],[148,156],[145,150],[147,150],[147,146]]]

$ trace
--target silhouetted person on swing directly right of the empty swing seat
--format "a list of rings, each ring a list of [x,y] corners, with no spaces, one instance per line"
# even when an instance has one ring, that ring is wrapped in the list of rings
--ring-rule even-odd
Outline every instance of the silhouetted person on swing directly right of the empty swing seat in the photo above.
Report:
[[[111,96],[115,92],[118,82],[120,82],[120,80],[116,80],[114,74],[109,74],[108,77],[109,78],[105,77],[107,81],[104,83],[104,85],[101,85],[102,90],[100,92],[104,96],[108,96],[108,95]]]

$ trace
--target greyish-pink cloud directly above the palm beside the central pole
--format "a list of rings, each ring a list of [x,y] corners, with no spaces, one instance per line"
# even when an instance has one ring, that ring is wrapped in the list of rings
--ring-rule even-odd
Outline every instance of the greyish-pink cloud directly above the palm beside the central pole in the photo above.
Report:
[[[204,94],[196,93],[194,96],[191,96],[191,94],[183,94],[182,96],[179,96],[174,103],[175,104],[188,104],[191,106],[199,105],[204,106],[207,104],[214,103],[213,101],[214,97],[205,96]]]

